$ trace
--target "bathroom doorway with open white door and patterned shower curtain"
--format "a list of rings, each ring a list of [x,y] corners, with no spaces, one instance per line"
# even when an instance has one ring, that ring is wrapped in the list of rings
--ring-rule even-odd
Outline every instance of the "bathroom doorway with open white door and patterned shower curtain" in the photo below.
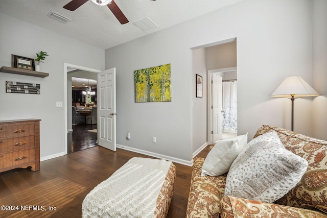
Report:
[[[218,91],[215,77],[221,78]],[[208,70],[208,142],[237,135],[237,67]],[[215,88],[216,87],[216,88]],[[228,93],[227,93],[228,92]],[[219,105],[216,108],[215,105]]]

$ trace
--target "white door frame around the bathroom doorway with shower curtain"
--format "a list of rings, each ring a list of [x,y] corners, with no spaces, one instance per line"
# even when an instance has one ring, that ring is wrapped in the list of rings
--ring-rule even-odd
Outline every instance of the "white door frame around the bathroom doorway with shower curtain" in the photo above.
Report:
[[[212,69],[207,71],[207,96],[208,96],[208,101],[207,101],[207,138],[208,138],[208,143],[212,144],[213,143],[213,109],[211,109],[211,106],[213,105],[212,102],[212,84],[211,84],[211,76],[212,74],[216,74],[217,72],[229,72],[229,71],[236,71],[237,67],[227,67],[227,68],[221,68],[221,69]]]

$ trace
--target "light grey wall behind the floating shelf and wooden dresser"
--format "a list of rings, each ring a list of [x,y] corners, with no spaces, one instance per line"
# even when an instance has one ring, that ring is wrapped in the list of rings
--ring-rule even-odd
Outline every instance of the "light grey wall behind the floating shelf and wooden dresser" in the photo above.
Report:
[[[64,63],[104,69],[104,50],[0,13],[0,66],[11,66],[11,54],[36,58],[49,54],[41,71],[49,77],[38,78],[0,72],[0,120],[37,118],[40,122],[41,159],[64,153]],[[6,93],[6,81],[37,83],[41,94]]]

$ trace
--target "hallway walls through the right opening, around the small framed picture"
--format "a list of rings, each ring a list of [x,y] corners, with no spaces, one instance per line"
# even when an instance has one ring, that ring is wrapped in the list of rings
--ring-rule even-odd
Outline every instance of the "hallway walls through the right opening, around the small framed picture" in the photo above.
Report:
[[[208,70],[237,67],[237,38],[225,39],[209,44],[192,47],[192,73],[203,77],[203,98],[192,96],[193,157],[207,144],[212,144],[212,119],[210,117],[209,98],[211,80]],[[193,76],[195,78],[195,76]],[[195,79],[193,79],[195,80]],[[196,81],[193,81],[195,83]],[[194,88],[195,89],[195,88]],[[221,111],[221,110],[220,110]],[[203,142],[205,142],[203,144]]]

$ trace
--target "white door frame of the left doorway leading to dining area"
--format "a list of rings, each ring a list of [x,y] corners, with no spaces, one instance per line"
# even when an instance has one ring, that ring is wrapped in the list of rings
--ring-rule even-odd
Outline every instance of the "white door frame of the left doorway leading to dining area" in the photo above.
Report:
[[[102,70],[98,69],[92,69],[84,66],[78,66],[74,64],[69,64],[69,63],[64,63],[64,154],[66,155],[68,153],[68,127],[67,127],[67,111],[68,111],[68,98],[67,98],[67,68],[74,68],[74,69],[79,69],[79,70],[84,70],[84,71],[89,71],[89,72],[94,72],[98,74],[98,72],[101,72]]]

